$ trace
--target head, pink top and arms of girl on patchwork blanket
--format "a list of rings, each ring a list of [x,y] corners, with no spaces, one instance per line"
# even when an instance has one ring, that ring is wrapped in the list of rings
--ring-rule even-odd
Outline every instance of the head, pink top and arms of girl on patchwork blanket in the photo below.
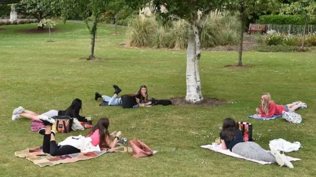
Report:
[[[100,118],[98,123],[92,127],[87,137],[92,139],[93,146],[99,145],[100,148],[114,148],[116,146],[121,132],[119,131],[114,141],[111,141],[111,136],[108,131],[109,125],[110,121],[108,118]]]

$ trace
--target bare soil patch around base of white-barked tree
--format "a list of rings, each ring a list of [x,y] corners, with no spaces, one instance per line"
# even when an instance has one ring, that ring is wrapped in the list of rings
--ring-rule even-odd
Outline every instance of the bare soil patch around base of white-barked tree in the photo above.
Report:
[[[228,103],[228,101],[220,100],[216,98],[204,98],[199,103],[187,102],[185,97],[170,98],[170,101],[172,102],[172,105],[174,106],[205,106],[207,107],[207,106],[220,106],[220,105],[224,105]]]

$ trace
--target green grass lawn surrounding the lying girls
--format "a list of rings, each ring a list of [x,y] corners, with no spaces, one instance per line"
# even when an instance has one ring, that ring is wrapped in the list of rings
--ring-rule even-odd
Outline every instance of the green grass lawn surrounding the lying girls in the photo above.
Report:
[[[95,56],[102,60],[86,61],[90,35],[85,25],[59,23],[49,35],[24,34],[20,29],[35,24],[1,26],[0,31],[0,176],[108,176],[108,177],[209,177],[209,176],[315,176],[316,175],[316,55],[315,53],[243,54],[243,63],[253,67],[230,69],[236,64],[236,52],[202,52],[200,75],[204,97],[234,101],[218,107],[154,106],[122,109],[100,107],[94,92],[111,95],[113,84],[122,94],[135,93],[147,85],[149,96],[166,99],[185,96],[186,51],[130,49],[119,46],[125,41],[111,35],[114,28],[100,26]],[[260,104],[261,93],[270,92],[278,104],[303,101],[308,109],[299,110],[303,123],[247,119]],[[12,110],[23,106],[43,113],[66,109],[74,98],[83,101],[81,115],[110,118],[110,131],[143,140],[158,153],[149,158],[133,158],[127,153],[40,168],[14,156],[15,151],[39,146],[42,136],[30,131],[26,118],[12,121]],[[314,111],[313,111],[314,110]],[[288,155],[301,158],[294,169],[260,165],[215,153],[199,146],[218,137],[223,118],[253,124],[256,143],[269,148],[269,141],[283,138],[299,141],[304,148]],[[88,130],[57,134],[57,141],[70,135],[86,135]],[[193,132],[197,132],[195,134]],[[260,136],[261,135],[261,136]],[[177,151],[172,151],[178,148]],[[204,162],[204,163],[202,163]],[[139,175],[140,174],[140,175]]]

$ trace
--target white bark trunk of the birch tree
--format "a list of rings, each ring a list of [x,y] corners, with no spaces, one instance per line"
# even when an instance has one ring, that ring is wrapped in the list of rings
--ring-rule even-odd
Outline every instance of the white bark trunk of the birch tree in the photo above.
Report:
[[[200,57],[200,44],[198,29],[196,24],[191,26],[191,31],[188,36],[187,48],[187,95],[186,100],[191,103],[202,101],[203,96],[201,93],[201,85],[199,80],[199,57]],[[197,33],[195,33],[197,31]]]

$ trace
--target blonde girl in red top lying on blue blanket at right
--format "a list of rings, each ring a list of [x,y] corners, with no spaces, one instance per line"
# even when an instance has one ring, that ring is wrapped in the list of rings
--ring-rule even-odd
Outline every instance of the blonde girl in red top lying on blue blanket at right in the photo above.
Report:
[[[293,102],[287,105],[277,105],[271,100],[270,93],[263,93],[261,96],[260,108],[256,108],[257,115],[261,117],[273,117],[274,115],[282,114],[285,112],[294,112],[299,108],[307,108],[307,105],[301,101]]]

